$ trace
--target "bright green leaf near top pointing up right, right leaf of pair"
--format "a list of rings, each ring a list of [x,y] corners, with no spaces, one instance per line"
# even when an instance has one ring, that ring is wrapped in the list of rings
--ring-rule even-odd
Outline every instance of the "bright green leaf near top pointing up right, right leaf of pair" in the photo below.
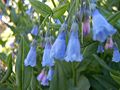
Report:
[[[69,3],[66,3],[66,4],[63,4],[63,5],[60,5],[56,8],[54,8],[53,9],[53,18],[61,17],[67,10],[68,6],[69,6]]]

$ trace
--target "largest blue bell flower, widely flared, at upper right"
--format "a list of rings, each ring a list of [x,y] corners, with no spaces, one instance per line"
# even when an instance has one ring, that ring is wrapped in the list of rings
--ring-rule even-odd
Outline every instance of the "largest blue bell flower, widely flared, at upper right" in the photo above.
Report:
[[[108,36],[116,33],[116,29],[96,9],[92,14],[93,40],[104,42]]]

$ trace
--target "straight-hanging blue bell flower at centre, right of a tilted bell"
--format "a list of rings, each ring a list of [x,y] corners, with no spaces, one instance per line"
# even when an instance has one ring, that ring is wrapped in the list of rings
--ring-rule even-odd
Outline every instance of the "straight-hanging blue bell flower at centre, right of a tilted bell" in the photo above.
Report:
[[[81,49],[80,49],[78,29],[79,29],[78,24],[76,22],[73,22],[71,26],[70,38],[69,38],[69,42],[66,50],[66,56],[65,56],[65,61],[67,62],[69,61],[81,62],[83,59],[83,56],[81,54]]]

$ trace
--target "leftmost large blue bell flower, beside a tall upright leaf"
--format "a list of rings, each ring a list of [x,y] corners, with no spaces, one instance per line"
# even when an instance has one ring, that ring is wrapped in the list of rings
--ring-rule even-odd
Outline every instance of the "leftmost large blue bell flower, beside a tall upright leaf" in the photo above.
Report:
[[[36,66],[36,43],[37,41],[33,40],[28,55],[24,61],[25,66],[28,65],[30,65],[31,67]]]

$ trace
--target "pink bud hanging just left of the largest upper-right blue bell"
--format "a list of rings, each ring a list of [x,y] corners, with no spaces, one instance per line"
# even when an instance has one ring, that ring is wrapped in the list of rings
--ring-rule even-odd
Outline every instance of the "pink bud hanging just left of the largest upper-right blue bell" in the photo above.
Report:
[[[82,23],[82,30],[83,30],[83,35],[86,36],[90,33],[90,21],[89,18],[84,20]]]

